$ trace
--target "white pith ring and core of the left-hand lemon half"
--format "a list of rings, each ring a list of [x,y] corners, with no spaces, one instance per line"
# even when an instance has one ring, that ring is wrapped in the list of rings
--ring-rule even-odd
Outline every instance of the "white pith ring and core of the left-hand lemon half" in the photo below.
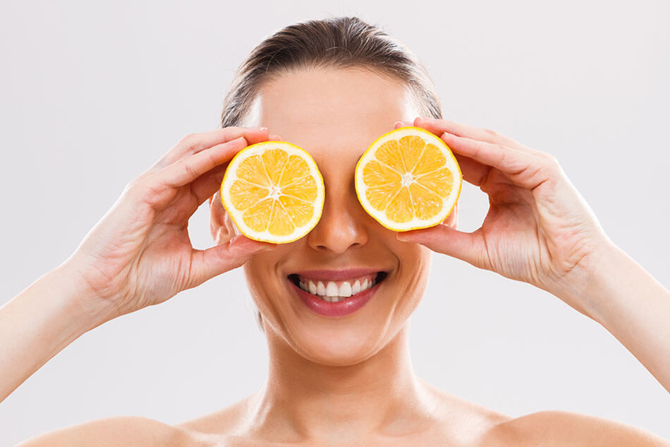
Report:
[[[310,167],[310,174],[312,177],[314,177],[315,183],[317,184],[317,198],[314,201],[314,214],[312,215],[312,218],[307,223],[305,223],[305,225],[301,225],[299,227],[296,225],[296,230],[291,234],[286,234],[285,236],[276,236],[267,230],[264,232],[252,230],[252,228],[248,227],[248,225],[246,225],[243,220],[242,215],[245,210],[237,210],[233,206],[233,201],[230,196],[231,185],[238,179],[238,177],[236,177],[236,175],[233,173],[237,171],[240,163],[243,162],[247,157],[252,155],[261,155],[269,149],[281,149],[285,150],[288,155],[298,155],[301,157],[303,160],[305,160],[305,162],[307,162],[307,166]],[[224,174],[224,180],[221,182],[220,191],[221,202],[224,203],[224,208],[226,208],[226,211],[231,216],[234,224],[243,234],[257,241],[266,241],[278,244],[281,244],[282,242],[295,241],[296,239],[300,239],[300,237],[303,237],[305,234],[310,232],[310,230],[312,230],[312,228],[317,225],[317,222],[319,222],[325,198],[323,178],[319,173],[319,169],[317,168],[315,161],[305,150],[291,143],[286,143],[285,141],[264,141],[262,143],[250,145],[240,151],[240,153],[233,157],[233,160],[231,160],[228,167],[226,167],[226,174]],[[274,198],[274,200],[277,200],[281,195],[281,188],[274,185],[269,190],[268,195],[261,200],[265,200],[266,198]]]

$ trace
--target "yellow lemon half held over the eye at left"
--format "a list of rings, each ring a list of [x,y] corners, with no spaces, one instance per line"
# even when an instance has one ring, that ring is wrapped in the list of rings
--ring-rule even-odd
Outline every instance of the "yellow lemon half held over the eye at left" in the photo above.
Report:
[[[286,141],[263,141],[240,150],[221,181],[221,202],[240,232],[282,244],[317,225],[324,182],[316,162]]]

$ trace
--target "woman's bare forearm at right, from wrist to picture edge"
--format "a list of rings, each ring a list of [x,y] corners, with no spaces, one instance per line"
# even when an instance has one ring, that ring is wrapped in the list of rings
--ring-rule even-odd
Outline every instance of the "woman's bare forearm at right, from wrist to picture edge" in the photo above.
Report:
[[[670,292],[612,245],[573,302],[614,335],[670,391]]]

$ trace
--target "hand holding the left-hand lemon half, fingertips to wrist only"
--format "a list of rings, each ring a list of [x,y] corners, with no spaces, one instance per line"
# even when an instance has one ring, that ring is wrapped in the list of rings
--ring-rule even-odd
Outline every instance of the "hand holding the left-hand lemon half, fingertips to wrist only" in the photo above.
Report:
[[[193,133],[130,181],[66,261],[90,292],[90,304],[115,318],[162,303],[272,249],[275,244],[240,234],[197,250],[188,237],[188,219],[219,190],[233,155],[268,139],[267,129],[243,127]]]

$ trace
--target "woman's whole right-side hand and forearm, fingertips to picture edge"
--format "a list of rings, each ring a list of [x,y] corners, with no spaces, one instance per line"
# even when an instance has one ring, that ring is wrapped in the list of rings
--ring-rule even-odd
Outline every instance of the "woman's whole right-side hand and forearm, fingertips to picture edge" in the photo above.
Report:
[[[489,196],[489,213],[475,232],[437,225],[398,239],[554,294],[670,391],[670,292],[605,234],[556,157],[489,129],[420,117],[413,125],[441,135],[465,181]]]

